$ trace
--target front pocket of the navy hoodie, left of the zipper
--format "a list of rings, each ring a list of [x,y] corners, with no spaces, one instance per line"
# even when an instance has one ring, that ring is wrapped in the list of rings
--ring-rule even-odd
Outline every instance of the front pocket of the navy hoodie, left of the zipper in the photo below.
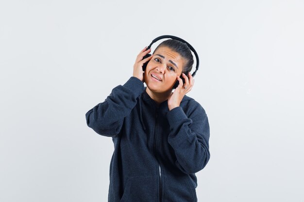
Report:
[[[157,182],[152,176],[131,176],[124,187],[120,202],[157,201]]]

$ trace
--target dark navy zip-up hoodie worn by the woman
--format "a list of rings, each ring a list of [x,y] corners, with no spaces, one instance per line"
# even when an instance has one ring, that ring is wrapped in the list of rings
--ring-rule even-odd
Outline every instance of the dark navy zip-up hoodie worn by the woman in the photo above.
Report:
[[[169,110],[131,77],[90,109],[86,123],[112,137],[108,202],[197,202],[197,178],[210,158],[203,107],[184,96]]]

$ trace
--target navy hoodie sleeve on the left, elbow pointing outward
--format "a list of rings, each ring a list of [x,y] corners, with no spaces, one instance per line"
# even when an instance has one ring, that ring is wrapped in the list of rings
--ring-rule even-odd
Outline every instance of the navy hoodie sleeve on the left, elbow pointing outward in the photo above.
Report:
[[[124,85],[115,87],[104,102],[86,112],[86,124],[99,135],[118,135],[124,118],[135,107],[136,98],[144,90],[143,82],[131,77]]]

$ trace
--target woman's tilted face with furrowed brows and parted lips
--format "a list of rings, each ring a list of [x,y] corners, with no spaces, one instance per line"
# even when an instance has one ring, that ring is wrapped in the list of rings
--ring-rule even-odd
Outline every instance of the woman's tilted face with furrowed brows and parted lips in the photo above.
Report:
[[[176,76],[182,74],[185,59],[169,47],[159,47],[149,61],[144,80],[147,87],[155,93],[172,91]]]

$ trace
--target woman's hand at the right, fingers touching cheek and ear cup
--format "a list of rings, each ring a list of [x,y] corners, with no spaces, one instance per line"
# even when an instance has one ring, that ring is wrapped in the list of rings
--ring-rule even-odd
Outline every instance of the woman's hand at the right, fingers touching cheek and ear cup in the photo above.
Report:
[[[189,78],[184,73],[182,75],[183,75],[183,78],[185,79],[185,83],[183,84],[183,80],[177,76],[179,85],[168,99],[169,110],[179,107],[185,94],[188,93],[189,91],[191,91],[191,89],[194,85],[194,79],[193,79],[192,75],[190,74],[190,72],[188,74]]]

